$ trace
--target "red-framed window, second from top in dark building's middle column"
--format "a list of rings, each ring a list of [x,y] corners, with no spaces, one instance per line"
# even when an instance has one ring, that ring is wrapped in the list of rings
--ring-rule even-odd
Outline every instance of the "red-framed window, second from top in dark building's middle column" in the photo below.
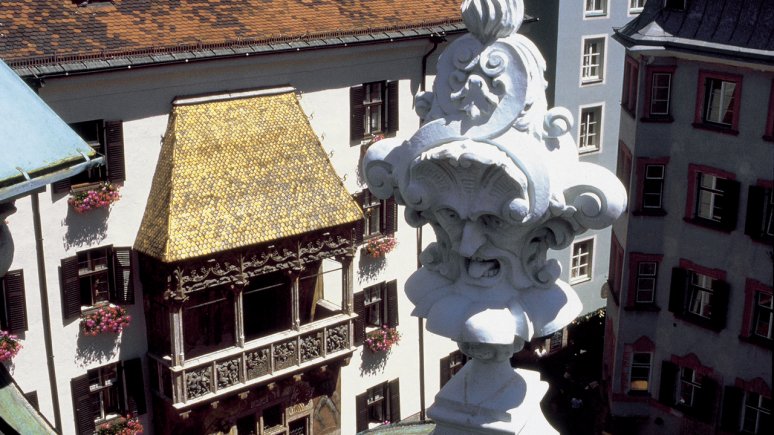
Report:
[[[739,182],[725,171],[688,165],[686,218],[695,224],[733,231],[739,206]],[[690,207],[690,208],[688,208]]]

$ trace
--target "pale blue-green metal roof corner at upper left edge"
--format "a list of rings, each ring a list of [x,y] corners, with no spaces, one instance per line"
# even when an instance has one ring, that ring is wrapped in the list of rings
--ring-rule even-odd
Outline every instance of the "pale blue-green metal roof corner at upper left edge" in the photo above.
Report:
[[[99,164],[95,154],[0,61],[0,202]]]

